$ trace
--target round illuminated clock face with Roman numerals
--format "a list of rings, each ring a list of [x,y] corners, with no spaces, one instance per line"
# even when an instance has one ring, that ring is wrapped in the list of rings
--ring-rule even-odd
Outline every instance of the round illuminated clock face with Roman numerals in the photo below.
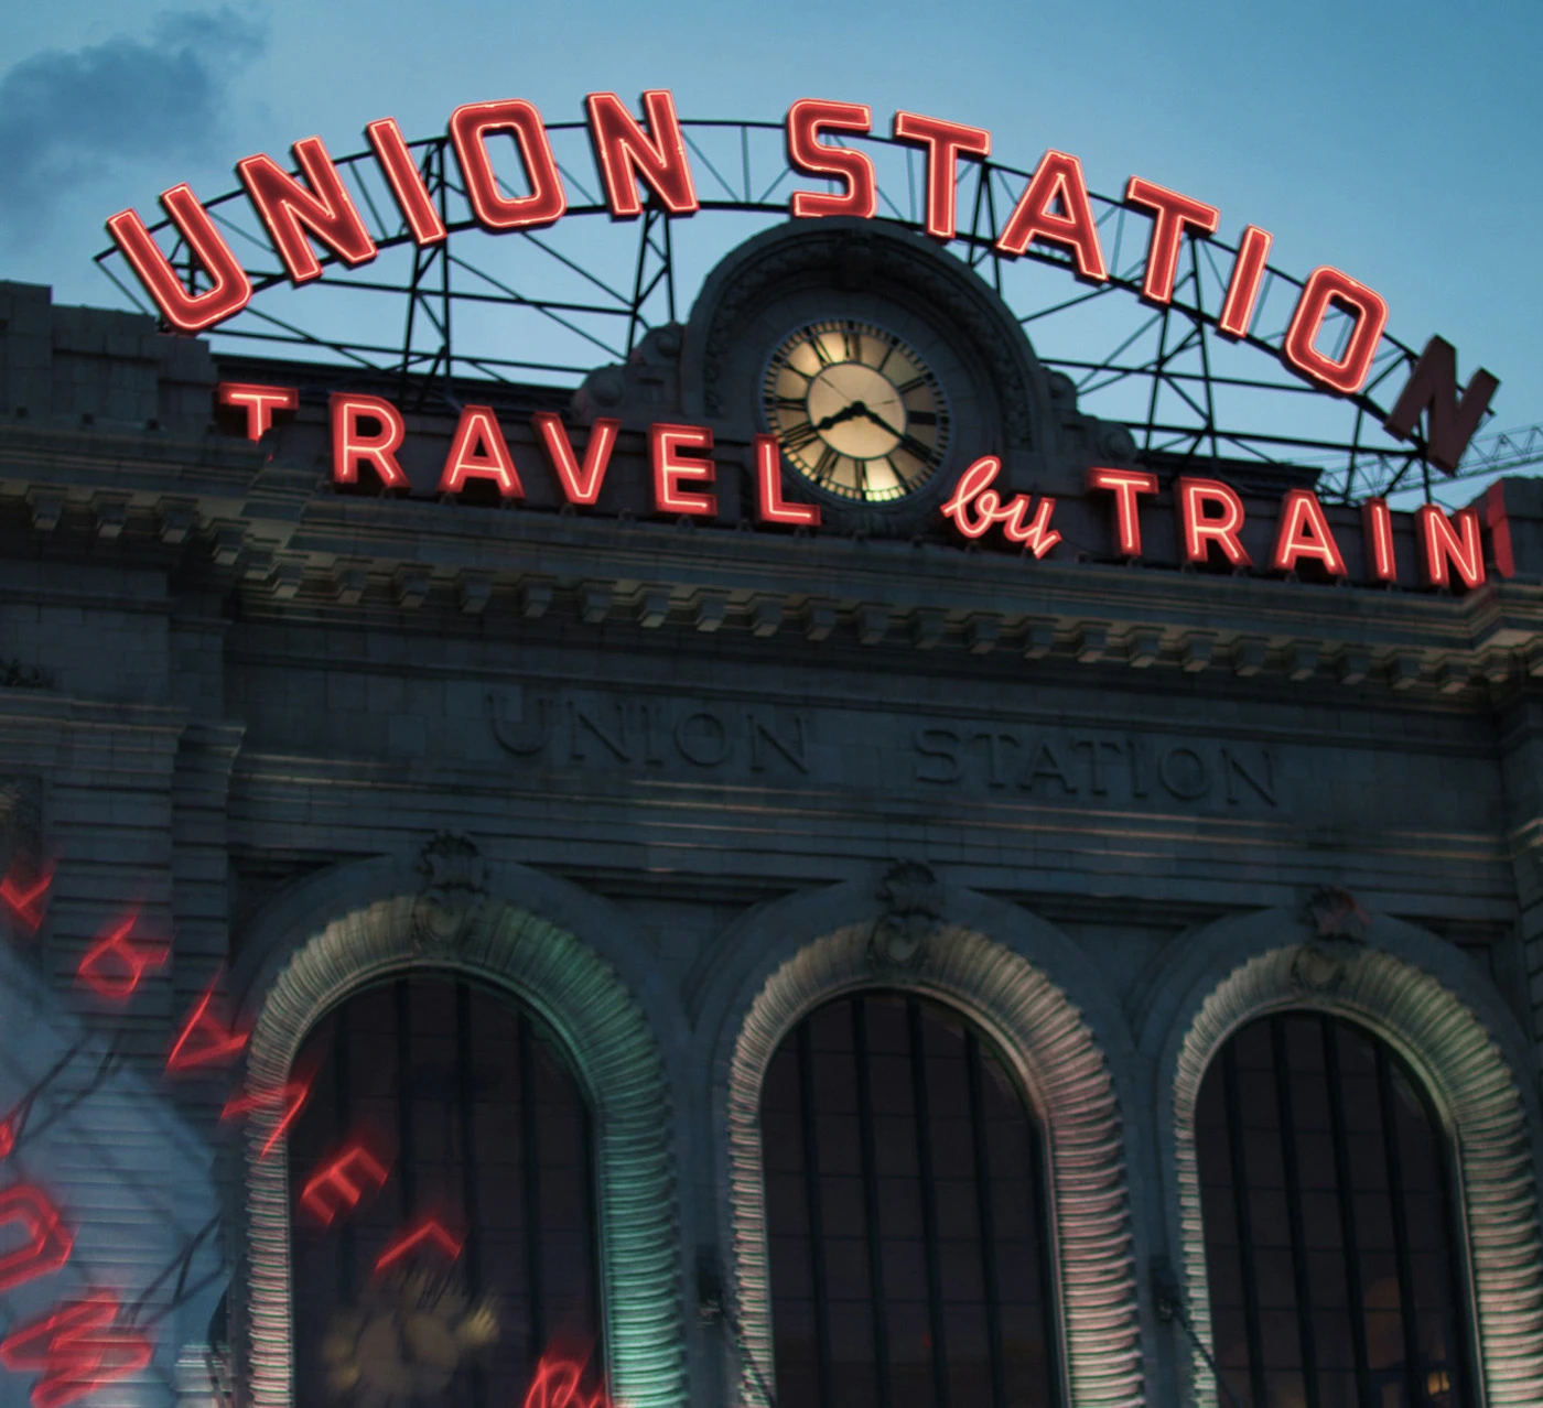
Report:
[[[767,424],[805,480],[858,503],[915,493],[943,463],[949,409],[932,369],[855,318],[810,322],[772,355]]]

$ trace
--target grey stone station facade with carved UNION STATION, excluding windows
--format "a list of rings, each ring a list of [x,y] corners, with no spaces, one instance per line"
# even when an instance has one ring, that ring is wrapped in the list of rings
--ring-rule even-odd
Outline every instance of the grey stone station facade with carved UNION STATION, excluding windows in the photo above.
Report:
[[[670,355],[580,399],[622,418],[622,480],[647,421],[688,412],[679,378],[643,375]],[[213,416],[222,378],[298,386],[299,412],[248,444]],[[1069,1405],[1216,1400],[1170,1302],[1204,1337],[1185,1100],[1227,1030],[1282,1004],[1353,1013],[1429,1076],[1489,1402],[1543,1399],[1537,481],[1503,490],[1509,580],[1332,588],[755,529],[724,435],[717,524],[559,512],[529,415],[569,398],[540,387],[486,392],[525,507],[341,493],[335,389],[397,392],[0,285],[8,844],[57,865],[37,933],[8,916],[0,1096],[57,1050],[100,1101],[15,1155],[97,1229],[71,1285],[153,1309],[194,1268],[153,1373],[97,1402],[167,1400],[227,1271],[241,1393],[290,1402],[285,1189],[253,1152],[272,1126],[231,1135],[228,1075],[160,1069],[225,970],[245,1078],[281,1083],[350,962],[492,975],[593,1081],[640,1081],[599,1098],[602,1177],[654,1204],[628,1229],[617,1192],[608,1235],[667,1252],[613,1282],[613,1314],[653,1314],[651,1357],[613,1331],[628,1403],[759,1402],[755,1081],[861,982],[964,1005],[1020,1063],[1051,1132]],[[443,458],[452,418],[407,421],[410,453]],[[170,948],[111,1002],[76,975],[131,907]],[[91,1086],[110,1047],[116,1084]],[[623,1106],[657,1143],[633,1164]],[[117,1130],[111,1158],[88,1124]],[[160,1177],[185,1194],[136,1206]],[[188,1254],[204,1203],[224,1215]],[[0,1403],[28,1383],[0,1379]]]

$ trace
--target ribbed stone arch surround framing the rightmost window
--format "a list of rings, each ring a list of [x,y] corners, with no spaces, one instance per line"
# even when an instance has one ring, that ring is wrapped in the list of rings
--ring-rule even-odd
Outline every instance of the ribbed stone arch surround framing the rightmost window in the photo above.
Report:
[[[1182,1282],[1191,1323],[1211,1343],[1194,1110],[1228,1036],[1284,1009],[1332,1012],[1392,1044],[1446,1121],[1463,1200],[1483,1402],[1543,1402],[1543,1241],[1532,1144],[1515,1073],[1474,1012],[1433,976],[1359,942],[1290,944],[1251,958],[1200,1004],[1179,1046],[1173,1086]],[[1204,1359],[1193,1402],[1214,1408]]]

